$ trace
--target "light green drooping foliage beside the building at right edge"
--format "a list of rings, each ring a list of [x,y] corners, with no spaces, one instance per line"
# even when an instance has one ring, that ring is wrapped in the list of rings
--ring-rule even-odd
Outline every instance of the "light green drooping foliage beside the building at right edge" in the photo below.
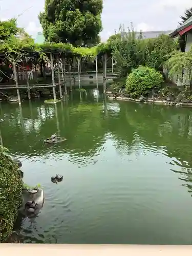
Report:
[[[178,79],[191,80],[192,47],[188,52],[173,52],[172,57],[165,62],[165,67],[169,70],[170,77],[177,76]]]

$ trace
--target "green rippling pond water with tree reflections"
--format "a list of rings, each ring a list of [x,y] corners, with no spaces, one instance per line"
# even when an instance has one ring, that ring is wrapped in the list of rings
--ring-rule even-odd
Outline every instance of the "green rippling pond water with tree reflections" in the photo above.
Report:
[[[109,101],[102,88],[56,108],[0,107],[4,146],[45,191],[38,217],[19,222],[24,242],[191,244],[191,109]],[[53,133],[67,141],[42,143]]]

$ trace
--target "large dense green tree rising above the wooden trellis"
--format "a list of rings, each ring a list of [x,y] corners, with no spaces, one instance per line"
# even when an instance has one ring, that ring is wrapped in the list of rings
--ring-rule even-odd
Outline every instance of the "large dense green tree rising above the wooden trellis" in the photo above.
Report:
[[[46,41],[93,46],[100,41],[102,0],[46,0],[39,14]]]

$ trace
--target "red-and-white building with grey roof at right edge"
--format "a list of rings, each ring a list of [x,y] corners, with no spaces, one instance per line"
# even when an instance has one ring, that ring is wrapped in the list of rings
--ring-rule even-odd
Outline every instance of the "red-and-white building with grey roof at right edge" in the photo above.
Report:
[[[185,52],[189,51],[192,45],[192,17],[188,18],[186,22],[180,25],[177,29],[172,31],[170,34],[172,37],[185,36]]]

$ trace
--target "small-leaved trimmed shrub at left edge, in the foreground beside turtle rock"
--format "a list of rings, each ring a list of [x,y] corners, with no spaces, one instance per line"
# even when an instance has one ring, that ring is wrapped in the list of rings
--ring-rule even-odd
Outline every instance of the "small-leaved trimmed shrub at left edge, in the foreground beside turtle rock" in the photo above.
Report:
[[[11,234],[22,200],[22,179],[17,164],[0,147],[0,242]]]

